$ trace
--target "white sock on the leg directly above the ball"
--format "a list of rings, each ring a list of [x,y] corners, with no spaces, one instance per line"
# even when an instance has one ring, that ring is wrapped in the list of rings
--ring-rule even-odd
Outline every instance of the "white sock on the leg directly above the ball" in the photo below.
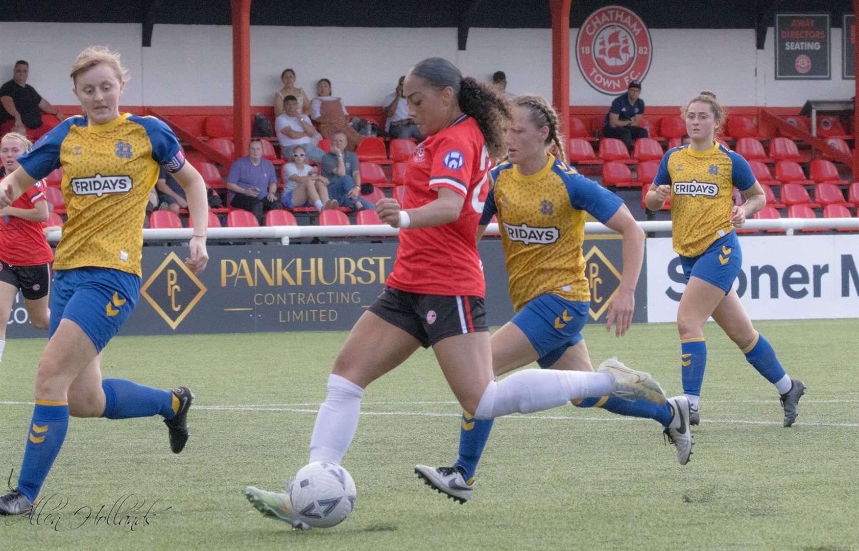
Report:
[[[310,461],[339,464],[358,428],[364,390],[347,378],[328,376],[325,402],[316,414],[314,435],[310,437]]]

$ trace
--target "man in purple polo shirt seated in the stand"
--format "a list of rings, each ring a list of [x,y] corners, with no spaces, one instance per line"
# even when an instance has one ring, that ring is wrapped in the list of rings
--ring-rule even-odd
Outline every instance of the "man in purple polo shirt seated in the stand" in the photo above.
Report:
[[[247,157],[236,159],[229,167],[229,204],[234,209],[253,212],[262,223],[265,212],[280,209],[276,193],[277,174],[271,160],[263,159],[263,144],[259,139],[252,139],[247,151]]]

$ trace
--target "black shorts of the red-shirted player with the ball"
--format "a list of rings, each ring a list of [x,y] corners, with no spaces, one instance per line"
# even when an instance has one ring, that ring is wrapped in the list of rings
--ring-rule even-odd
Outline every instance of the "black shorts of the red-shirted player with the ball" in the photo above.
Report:
[[[386,287],[369,310],[415,337],[423,348],[448,336],[489,331],[483,297],[407,293]]]

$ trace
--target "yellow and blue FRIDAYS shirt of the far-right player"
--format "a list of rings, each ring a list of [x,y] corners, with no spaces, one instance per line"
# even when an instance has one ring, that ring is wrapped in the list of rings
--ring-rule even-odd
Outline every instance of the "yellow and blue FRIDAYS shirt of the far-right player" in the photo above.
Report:
[[[704,151],[688,145],[662,157],[654,185],[671,185],[674,252],[697,257],[731,231],[734,187],[747,190],[756,182],[747,160],[714,143]]]

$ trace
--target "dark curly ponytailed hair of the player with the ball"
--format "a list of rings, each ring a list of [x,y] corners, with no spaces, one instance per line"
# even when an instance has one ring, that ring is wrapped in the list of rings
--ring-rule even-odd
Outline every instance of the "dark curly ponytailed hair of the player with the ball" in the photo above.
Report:
[[[504,156],[504,124],[510,118],[510,112],[507,102],[498,97],[491,88],[471,76],[463,77],[460,70],[444,58],[424,59],[412,67],[409,74],[421,78],[437,90],[448,86],[452,88],[460,111],[478,124],[490,156]]]

